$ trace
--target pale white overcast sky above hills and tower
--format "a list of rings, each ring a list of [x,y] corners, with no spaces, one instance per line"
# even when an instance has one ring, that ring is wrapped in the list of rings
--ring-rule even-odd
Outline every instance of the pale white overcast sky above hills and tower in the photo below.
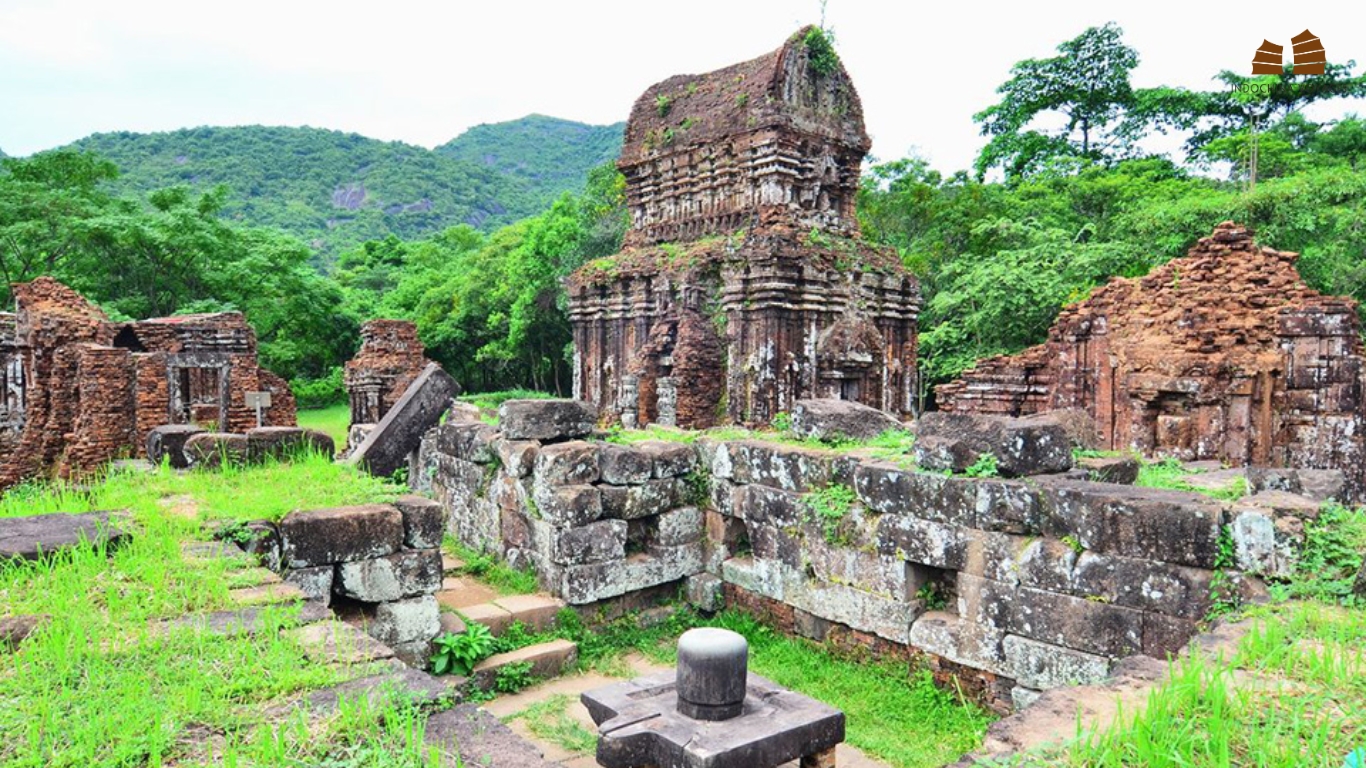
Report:
[[[1011,64],[1087,26],[1124,29],[1137,86],[1214,87],[1220,70],[1250,71],[1262,38],[1288,51],[1305,29],[1329,61],[1366,63],[1358,3],[1218,5],[829,0],[825,20],[873,154],[914,150],[943,171],[971,164],[973,113]],[[653,82],[758,56],[820,15],[818,0],[0,0],[0,149],[239,124],[436,146],[531,112],[612,123]]]

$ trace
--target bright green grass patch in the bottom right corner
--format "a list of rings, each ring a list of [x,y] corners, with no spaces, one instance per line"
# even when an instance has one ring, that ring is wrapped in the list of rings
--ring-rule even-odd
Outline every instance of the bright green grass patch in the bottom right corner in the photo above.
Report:
[[[1070,767],[1337,768],[1366,743],[1366,612],[1264,608],[1233,659],[1172,666],[1142,712],[1083,731]]]

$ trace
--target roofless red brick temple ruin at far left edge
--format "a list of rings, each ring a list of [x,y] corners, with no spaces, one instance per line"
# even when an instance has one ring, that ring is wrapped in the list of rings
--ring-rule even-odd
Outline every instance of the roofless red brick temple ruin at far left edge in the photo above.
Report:
[[[294,395],[257,364],[240,313],[115,323],[51,277],[14,295],[18,312],[0,314],[0,488],[139,456],[165,424],[246,432],[247,392],[269,392],[266,425],[295,424]]]

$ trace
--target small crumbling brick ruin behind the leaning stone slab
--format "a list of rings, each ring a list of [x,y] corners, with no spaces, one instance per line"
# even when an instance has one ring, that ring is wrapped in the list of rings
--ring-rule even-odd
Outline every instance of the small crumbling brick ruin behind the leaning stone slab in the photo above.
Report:
[[[428,362],[413,323],[370,320],[361,325],[361,350],[346,364],[351,424],[378,424]]]

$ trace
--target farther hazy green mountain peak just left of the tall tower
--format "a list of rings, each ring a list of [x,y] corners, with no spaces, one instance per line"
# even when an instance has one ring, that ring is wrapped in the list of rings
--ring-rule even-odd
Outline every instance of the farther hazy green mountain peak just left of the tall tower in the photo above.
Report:
[[[527,115],[474,126],[436,152],[520,179],[545,206],[563,191],[583,191],[589,169],[622,153],[624,131],[626,123],[589,126]]]

